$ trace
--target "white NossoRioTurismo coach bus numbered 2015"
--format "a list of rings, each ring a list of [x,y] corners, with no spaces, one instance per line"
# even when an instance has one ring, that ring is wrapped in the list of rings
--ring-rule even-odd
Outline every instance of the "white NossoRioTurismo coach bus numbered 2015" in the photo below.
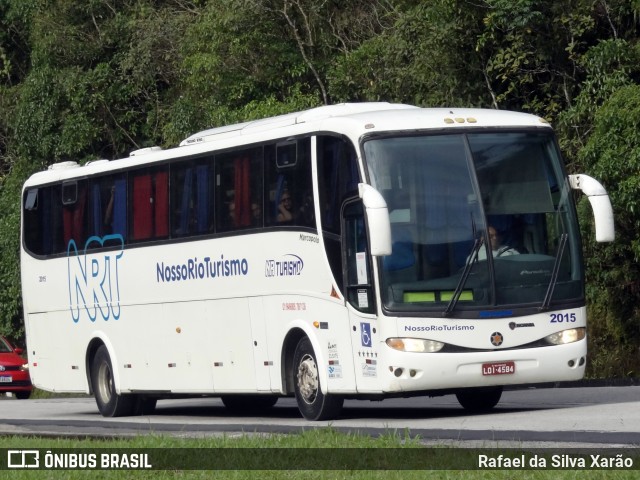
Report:
[[[104,416],[295,395],[321,420],[345,398],[482,410],[503,386],[580,379],[572,189],[612,240],[605,190],[567,176],[544,120],[387,103],[51,165],[22,195],[33,384]]]

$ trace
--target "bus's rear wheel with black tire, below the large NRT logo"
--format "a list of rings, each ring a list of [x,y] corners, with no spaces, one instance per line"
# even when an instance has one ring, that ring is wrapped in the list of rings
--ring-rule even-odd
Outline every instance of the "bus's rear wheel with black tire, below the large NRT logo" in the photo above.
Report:
[[[101,345],[91,362],[91,386],[103,417],[125,417],[135,412],[136,397],[118,395],[107,347]]]

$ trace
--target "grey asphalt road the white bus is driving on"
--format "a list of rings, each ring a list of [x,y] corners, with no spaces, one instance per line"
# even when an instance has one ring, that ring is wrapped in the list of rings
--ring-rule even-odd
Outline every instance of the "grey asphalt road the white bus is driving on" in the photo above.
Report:
[[[338,420],[308,422],[295,400],[267,416],[237,416],[215,398],[161,400],[153,415],[103,418],[93,398],[0,401],[0,434],[202,437],[229,432],[292,433],[331,425],[369,435],[409,432],[426,444],[474,447],[640,447],[640,386],[505,391],[491,412],[472,415],[455,397],[346,401]]]

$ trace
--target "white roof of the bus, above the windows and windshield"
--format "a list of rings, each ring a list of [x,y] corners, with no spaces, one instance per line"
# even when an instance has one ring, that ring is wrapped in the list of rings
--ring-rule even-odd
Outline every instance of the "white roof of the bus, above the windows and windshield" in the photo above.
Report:
[[[357,142],[362,135],[372,132],[464,127],[549,127],[549,124],[535,115],[504,110],[420,108],[386,102],[325,105],[203,130],[189,136],[176,148],[143,148],[123,159],[97,160],[82,167],[74,161],[56,163],[48,170],[32,175],[25,187],[312,132],[338,132]]]

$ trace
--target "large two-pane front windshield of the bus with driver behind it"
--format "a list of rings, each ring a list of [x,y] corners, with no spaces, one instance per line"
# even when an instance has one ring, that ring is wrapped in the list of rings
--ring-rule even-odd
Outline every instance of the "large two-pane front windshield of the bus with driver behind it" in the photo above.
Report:
[[[391,220],[385,310],[482,318],[582,301],[575,211],[550,133],[374,137],[364,155]]]

